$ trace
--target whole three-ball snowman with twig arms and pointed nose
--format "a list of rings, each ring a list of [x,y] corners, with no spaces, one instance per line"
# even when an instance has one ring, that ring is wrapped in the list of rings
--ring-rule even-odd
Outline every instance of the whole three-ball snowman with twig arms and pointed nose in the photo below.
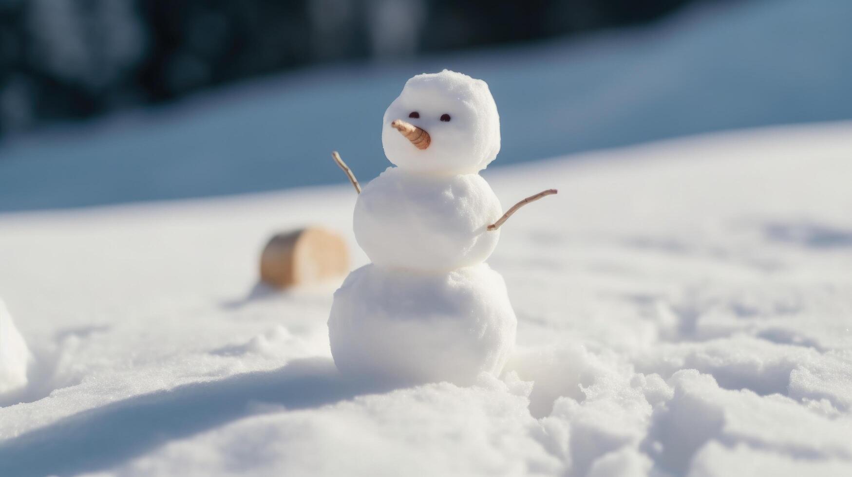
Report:
[[[406,82],[384,113],[389,167],[360,194],[354,234],[371,263],[349,273],[328,320],[347,375],[467,385],[498,375],[517,320],[499,273],[485,263],[506,214],[479,171],[497,157],[500,121],[488,85],[458,72]]]

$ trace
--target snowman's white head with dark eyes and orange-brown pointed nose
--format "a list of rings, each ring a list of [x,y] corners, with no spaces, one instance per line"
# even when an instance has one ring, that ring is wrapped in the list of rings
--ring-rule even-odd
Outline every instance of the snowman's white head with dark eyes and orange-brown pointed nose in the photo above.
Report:
[[[500,151],[500,118],[481,79],[444,70],[423,73],[384,112],[384,153],[403,170],[470,174]]]

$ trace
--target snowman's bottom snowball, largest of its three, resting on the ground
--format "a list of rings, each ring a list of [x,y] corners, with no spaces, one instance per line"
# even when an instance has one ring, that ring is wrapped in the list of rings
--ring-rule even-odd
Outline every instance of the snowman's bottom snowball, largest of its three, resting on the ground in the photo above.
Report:
[[[340,371],[404,382],[475,382],[515,346],[506,285],[486,264],[417,274],[366,265],[334,294],[328,320]]]

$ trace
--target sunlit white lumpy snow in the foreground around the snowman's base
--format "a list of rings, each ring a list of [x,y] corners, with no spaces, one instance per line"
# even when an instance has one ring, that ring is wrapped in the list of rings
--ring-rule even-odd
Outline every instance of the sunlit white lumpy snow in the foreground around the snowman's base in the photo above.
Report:
[[[348,184],[0,216],[36,358],[0,475],[849,475],[850,155],[837,123],[493,170],[560,194],[502,229],[519,347],[470,387],[344,379],[339,283],[256,284],[306,223],[366,263]]]

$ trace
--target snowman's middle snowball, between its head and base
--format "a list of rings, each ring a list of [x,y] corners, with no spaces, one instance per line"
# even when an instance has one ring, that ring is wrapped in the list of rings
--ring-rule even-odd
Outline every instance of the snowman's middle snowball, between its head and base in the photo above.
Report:
[[[502,208],[476,174],[433,177],[388,168],[364,187],[355,239],[383,267],[448,271],[485,261],[497,246]]]

